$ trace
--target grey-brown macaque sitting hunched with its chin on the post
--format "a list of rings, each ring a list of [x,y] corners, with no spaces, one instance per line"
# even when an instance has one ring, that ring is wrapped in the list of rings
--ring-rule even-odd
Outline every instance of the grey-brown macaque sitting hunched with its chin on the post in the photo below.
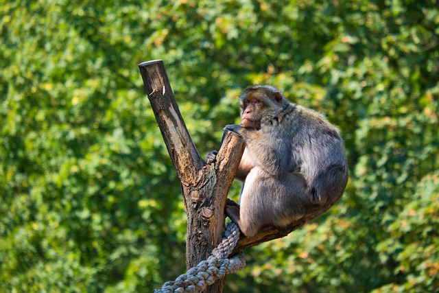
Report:
[[[273,86],[240,97],[241,124],[226,126],[246,142],[237,176],[239,205],[226,213],[244,235],[285,227],[327,210],[342,196],[348,165],[340,134],[319,113],[288,102]]]

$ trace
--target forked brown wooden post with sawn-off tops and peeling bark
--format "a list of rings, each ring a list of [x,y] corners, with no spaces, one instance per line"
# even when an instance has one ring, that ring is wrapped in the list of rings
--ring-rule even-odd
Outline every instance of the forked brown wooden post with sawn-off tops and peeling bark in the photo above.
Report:
[[[224,206],[244,152],[244,141],[226,131],[217,163],[206,165],[195,148],[176,103],[162,60],[139,69],[148,99],[182,187],[187,213],[187,269],[207,259],[222,239]],[[204,292],[224,292],[225,278]]]

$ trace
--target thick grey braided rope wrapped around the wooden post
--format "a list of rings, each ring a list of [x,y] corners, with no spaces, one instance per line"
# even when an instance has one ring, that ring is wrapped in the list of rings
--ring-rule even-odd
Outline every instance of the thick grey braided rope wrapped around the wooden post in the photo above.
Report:
[[[237,224],[230,222],[226,226],[224,238],[217,248],[213,249],[212,254],[205,261],[201,261],[197,266],[190,268],[186,274],[182,274],[176,281],[167,281],[161,290],[154,290],[154,293],[171,292],[200,292],[208,285],[212,285],[226,276],[237,272],[246,266],[244,253],[239,253],[228,259],[239,239],[239,228]]]

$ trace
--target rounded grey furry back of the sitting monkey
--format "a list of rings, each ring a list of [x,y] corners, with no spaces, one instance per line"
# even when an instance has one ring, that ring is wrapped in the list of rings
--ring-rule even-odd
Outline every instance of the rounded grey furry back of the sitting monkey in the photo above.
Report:
[[[300,105],[294,105],[288,118],[294,125],[289,140],[294,158],[292,167],[300,170],[313,196],[337,200],[348,180],[339,130],[322,114]]]

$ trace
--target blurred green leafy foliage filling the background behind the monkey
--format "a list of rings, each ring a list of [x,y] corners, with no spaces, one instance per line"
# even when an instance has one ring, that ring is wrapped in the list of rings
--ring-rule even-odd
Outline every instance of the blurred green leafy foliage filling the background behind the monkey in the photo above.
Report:
[[[180,183],[137,67],[154,59],[202,156],[252,84],[344,137],[340,202],[248,250],[226,292],[437,290],[438,1],[12,0],[0,5],[1,292],[149,292],[185,271]]]

